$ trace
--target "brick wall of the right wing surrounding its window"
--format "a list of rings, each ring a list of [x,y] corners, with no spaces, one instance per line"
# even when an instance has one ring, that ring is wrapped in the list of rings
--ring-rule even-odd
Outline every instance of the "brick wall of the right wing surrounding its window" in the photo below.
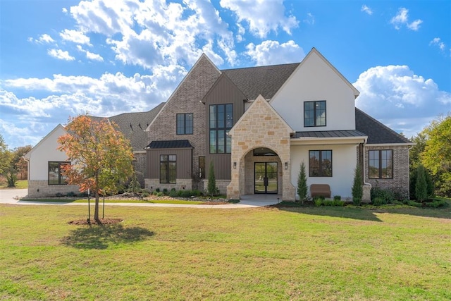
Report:
[[[372,149],[392,149],[393,150],[393,179],[370,179],[368,177],[368,151]],[[357,152],[359,149],[357,148]],[[364,147],[364,168],[365,182],[372,187],[379,187],[400,192],[404,197],[409,198],[409,146],[386,145]]]

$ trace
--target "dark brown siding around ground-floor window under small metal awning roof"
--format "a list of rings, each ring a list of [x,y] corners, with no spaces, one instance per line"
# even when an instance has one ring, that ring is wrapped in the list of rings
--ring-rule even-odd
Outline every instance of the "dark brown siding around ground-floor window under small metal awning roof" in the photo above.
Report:
[[[177,156],[177,178],[189,179],[192,174],[192,149],[149,149],[147,151],[147,178],[160,178],[160,155]]]

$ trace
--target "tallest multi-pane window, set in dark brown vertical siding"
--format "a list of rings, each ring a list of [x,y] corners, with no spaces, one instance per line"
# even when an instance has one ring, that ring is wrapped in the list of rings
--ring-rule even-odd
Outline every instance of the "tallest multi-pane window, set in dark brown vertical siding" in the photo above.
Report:
[[[233,127],[233,104],[210,106],[210,154],[230,154],[232,140],[227,135]]]

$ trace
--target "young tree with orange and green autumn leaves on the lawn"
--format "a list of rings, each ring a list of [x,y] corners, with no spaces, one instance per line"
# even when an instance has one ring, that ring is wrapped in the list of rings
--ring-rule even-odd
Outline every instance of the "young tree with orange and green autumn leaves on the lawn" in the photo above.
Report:
[[[63,174],[69,184],[80,186],[80,192],[94,193],[94,220],[99,222],[101,192],[117,192],[132,176],[132,147],[108,119],[94,121],[80,115],[69,118],[66,130],[68,134],[58,138],[58,149],[71,162],[63,167]]]

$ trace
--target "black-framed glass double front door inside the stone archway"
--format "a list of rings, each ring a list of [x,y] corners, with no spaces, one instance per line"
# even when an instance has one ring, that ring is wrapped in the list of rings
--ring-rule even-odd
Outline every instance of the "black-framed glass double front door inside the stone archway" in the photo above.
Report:
[[[254,193],[277,194],[277,162],[255,162]]]

